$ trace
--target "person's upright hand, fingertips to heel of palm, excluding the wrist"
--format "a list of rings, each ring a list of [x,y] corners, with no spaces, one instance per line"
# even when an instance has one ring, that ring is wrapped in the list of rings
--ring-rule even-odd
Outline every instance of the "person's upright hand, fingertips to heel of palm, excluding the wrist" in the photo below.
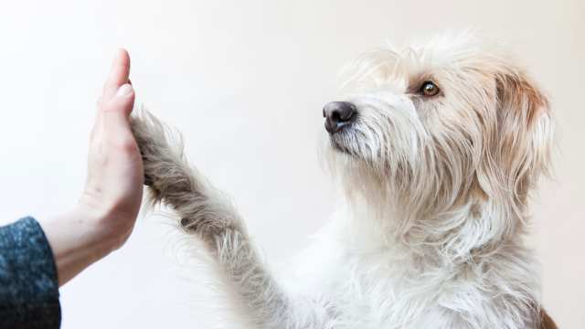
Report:
[[[88,176],[79,207],[96,219],[96,234],[119,248],[132,232],[143,197],[143,161],[130,129],[134,92],[130,58],[119,50],[98,101]]]

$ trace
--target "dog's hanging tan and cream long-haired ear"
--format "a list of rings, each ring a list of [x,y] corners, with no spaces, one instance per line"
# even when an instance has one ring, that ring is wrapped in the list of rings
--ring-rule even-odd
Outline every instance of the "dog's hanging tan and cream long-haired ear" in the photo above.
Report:
[[[540,174],[549,172],[552,117],[546,96],[524,71],[498,70],[495,86],[497,122],[488,151],[491,159],[485,163],[491,168],[484,168],[490,173],[484,174],[499,185],[490,186],[491,192],[498,189],[500,196],[514,200],[516,210],[521,210]]]

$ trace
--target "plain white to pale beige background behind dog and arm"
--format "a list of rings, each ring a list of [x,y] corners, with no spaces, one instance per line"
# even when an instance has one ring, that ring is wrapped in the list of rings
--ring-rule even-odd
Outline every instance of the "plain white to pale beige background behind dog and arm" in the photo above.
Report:
[[[360,52],[445,29],[504,40],[551,98],[556,177],[534,204],[530,243],[545,305],[585,328],[585,2],[0,1],[0,218],[70,207],[85,175],[94,104],[114,49],[137,93],[185,133],[187,154],[234,196],[272,263],[294,254],[334,207],[318,164],[321,108]],[[208,328],[208,271],[185,271],[161,216],[61,290],[63,328]]]

